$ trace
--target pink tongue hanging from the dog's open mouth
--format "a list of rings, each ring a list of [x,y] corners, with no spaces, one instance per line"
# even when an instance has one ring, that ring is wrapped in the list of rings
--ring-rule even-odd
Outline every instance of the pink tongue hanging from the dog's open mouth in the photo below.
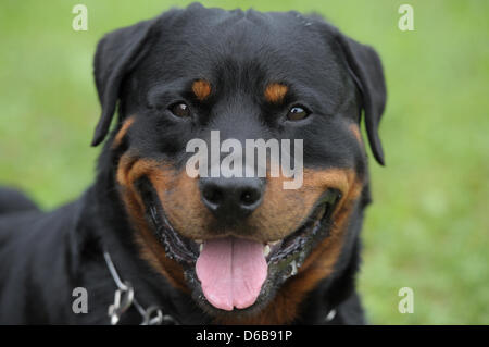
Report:
[[[253,305],[267,271],[262,244],[233,237],[205,241],[196,264],[205,298],[226,311]]]

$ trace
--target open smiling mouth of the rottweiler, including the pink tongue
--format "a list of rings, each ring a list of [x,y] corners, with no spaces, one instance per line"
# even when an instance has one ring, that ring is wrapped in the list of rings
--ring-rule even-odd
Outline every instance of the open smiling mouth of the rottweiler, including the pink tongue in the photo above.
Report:
[[[138,184],[146,214],[166,257],[179,262],[196,301],[214,315],[255,312],[294,276],[314,247],[329,235],[341,193],[327,189],[302,224],[283,239],[256,241],[227,236],[191,239],[166,218],[148,179]]]

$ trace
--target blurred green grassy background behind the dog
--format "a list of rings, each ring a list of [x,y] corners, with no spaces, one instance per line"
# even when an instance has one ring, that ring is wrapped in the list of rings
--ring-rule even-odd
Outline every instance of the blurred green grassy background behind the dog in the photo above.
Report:
[[[88,32],[72,8],[88,7]],[[0,183],[51,209],[93,181],[100,108],[92,55],[106,32],[187,1],[0,2]],[[204,1],[316,11],[374,46],[387,76],[371,160],[375,203],[363,230],[360,290],[374,324],[489,323],[489,1]],[[414,8],[401,32],[398,8]],[[401,314],[398,290],[414,290]]]

